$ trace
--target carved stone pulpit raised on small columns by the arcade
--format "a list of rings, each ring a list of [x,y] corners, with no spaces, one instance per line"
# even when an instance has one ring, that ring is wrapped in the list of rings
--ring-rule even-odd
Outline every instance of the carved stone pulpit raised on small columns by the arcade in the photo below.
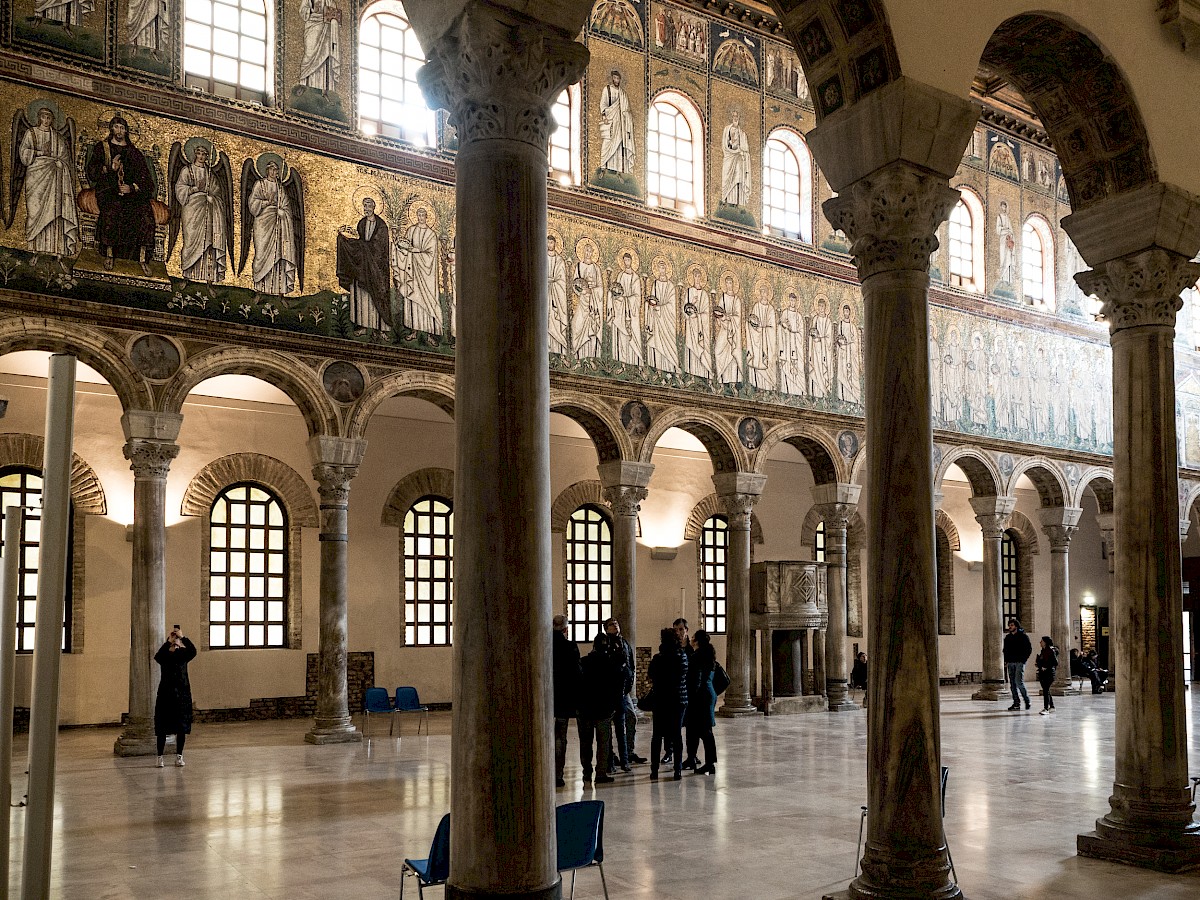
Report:
[[[756,704],[767,715],[826,708],[824,563],[772,560],[750,566],[751,641],[761,660]]]

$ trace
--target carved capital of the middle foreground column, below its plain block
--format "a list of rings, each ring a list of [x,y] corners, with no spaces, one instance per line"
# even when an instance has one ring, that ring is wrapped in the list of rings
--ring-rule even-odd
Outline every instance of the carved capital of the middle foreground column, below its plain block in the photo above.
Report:
[[[826,216],[850,238],[859,280],[888,271],[929,272],[937,227],[958,203],[944,178],[895,162],[826,200]]]

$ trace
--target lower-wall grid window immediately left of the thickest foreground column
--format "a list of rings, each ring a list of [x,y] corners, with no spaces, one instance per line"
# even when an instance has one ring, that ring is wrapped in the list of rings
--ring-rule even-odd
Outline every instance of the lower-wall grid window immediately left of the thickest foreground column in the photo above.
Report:
[[[454,510],[422,497],[404,514],[404,643],[454,642]]]

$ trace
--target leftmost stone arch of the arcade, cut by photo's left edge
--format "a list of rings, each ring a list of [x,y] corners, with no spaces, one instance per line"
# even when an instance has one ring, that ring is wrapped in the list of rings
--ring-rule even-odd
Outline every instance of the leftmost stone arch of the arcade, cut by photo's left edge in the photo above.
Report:
[[[154,409],[146,380],[130,365],[125,344],[101,329],[16,316],[0,322],[0,356],[18,350],[70,353],[104,377],[121,409]]]

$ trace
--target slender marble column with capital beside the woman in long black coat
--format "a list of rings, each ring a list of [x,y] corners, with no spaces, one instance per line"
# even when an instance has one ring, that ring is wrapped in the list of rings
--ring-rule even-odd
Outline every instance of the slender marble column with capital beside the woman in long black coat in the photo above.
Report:
[[[167,632],[167,474],[179,455],[184,416],[130,409],[121,416],[125,458],[133,469],[133,558],[130,583],[130,712],[113,745],[118,756],[156,751],[154,654]]]

